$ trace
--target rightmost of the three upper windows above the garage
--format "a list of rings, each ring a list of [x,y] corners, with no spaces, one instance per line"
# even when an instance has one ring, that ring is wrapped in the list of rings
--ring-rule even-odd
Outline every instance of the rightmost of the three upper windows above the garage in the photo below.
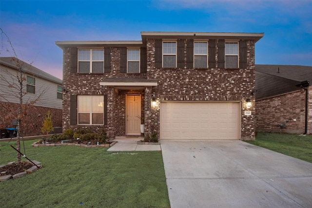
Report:
[[[225,43],[225,68],[238,68],[238,43]]]

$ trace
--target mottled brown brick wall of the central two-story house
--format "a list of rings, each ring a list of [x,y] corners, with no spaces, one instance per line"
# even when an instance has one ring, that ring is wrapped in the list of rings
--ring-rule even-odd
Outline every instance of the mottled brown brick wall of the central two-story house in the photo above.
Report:
[[[91,131],[104,129],[110,138],[125,135],[125,95],[140,94],[142,114],[145,116],[145,134],[159,133],[160,102],[167,100],[187,101],[240,101],[241,102],[241,139],[255,138],[255,87],[254,40],[247,40],[247,68],[219,69],[217,66],[218,48],[215,46],[216,68],[186,68],[187,40],[184,39],[184,68],[163,69],[155,67],[155,39],[147,39],[147,73],[120,73],[120,48],[111,47],[111,73],[78,74],[71,73],[71,48],[63,49],[63,86],[67,93],[63,95],[63,129],[86,128]],[[104,47],[103,47],[104,48]],[[144,90],[119,90],[114,87],[100,86],[105,78],[139,77],[157,80],[158,86],[145,87]],[[157,105],[151,106],[155,93]],[[107,95],[107,125],[70,125],[70,95]],[[246,108],[246,99],[251,99],[252,107]],[[252,115],[244,115],[244,111]]]

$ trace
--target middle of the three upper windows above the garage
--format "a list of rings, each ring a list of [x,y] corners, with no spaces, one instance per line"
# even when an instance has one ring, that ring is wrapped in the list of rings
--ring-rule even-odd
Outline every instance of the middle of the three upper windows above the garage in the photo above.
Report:
[[[194,68],[207,68],[207,42],[194,42]]]

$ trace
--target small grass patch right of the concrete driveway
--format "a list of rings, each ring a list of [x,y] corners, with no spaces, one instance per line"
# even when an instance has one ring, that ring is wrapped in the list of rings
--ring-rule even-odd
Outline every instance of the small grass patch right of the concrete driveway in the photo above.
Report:
[[[312,163],[312,135],[257,132],[249,143]]]

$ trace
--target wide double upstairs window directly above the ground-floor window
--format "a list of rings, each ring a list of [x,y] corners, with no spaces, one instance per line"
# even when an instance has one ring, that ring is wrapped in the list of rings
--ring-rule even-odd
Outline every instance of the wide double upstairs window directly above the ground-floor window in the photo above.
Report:
[[[78,50],[78,72],[79,73],[103,73],[104,72],[104,50],[79,49]]]

